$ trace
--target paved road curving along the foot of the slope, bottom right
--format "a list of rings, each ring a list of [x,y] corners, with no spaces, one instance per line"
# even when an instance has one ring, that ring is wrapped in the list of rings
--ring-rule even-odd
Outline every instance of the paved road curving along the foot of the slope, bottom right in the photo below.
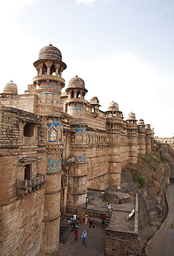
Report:
[[[146,254],[148,256],[173,256],[174,255],[174,184],[166,192],[168,201],[168,217],[156,232],[153,239],[148,241]],[[173,222],[173,228],[171,228]]]

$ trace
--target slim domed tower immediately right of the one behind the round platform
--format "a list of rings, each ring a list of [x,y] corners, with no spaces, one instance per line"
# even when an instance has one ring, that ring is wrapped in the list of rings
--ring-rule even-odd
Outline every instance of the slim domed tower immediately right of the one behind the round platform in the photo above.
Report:
[[[128,123],[129,161],[131,163],[137,163],[137,120],[135,119],[135,113],[131,111],[128,114],[126,122]]]

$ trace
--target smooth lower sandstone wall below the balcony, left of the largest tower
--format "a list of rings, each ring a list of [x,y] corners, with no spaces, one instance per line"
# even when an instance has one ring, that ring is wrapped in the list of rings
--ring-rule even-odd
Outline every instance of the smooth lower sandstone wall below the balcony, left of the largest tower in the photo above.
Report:
[[[1,207],[1,256],[32,256],[39,252],[44,188]]]

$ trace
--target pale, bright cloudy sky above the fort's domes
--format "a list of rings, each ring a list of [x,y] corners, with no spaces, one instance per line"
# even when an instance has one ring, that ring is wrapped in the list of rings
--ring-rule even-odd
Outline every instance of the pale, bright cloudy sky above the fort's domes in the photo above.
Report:
[[[62,92],[78,75],[101,111],[115,101],[124,120],[132,111],[155,136],[174,136],[173,0],[6,0],[0,21],[1,93],[12,80],[23,94],[51,43],[67,65]]]

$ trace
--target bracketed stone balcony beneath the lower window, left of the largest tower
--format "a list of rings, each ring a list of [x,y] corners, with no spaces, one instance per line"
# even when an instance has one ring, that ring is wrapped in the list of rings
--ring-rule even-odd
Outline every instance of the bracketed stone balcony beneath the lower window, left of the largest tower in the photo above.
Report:
[[[24,196],[39,190],[46,183],[46,174],[38,174],[34,179],[18,180],[17,179],[17,196]]]

